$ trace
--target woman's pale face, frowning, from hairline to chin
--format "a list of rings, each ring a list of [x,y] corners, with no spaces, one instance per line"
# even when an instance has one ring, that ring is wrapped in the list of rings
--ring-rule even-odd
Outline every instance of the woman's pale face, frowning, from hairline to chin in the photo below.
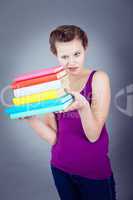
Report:
[[[69,74],[80,74],[85,60],[85,49],[82,41],[74,39],[69,42],[56,42],[55,45],[59,64],[63,65]]]

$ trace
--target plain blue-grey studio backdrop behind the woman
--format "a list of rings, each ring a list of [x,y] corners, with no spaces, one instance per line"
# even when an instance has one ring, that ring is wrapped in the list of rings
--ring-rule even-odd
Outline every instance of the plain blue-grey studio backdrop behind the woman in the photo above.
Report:
[[[0,91],[21,73],[52,67],[49,33],[62,24],[75,24],[89,37],[86,67],[105,70],[111,81],[112,102],[107,127],[110,158],[119,200],[133,199],[133,84],[132,0],[0,0]],[[132,109],[130,116],[119,106]],[[23,121],[0,115],[0,199],[59,199],[49,166],[50,145]]]

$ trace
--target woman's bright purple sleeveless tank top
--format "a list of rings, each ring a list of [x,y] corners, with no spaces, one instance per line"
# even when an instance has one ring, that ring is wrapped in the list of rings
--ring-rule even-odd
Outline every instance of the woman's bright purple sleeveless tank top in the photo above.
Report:
[[[80,92],[91,104],[93,70]],[[99,139],[91,143],[83,130],[77,110],[54,113],[57,142],[51,148],[51,164],[64,172],[90,179],[106,179],[112,175],[108,157],[109,137],[104,124]],[[88,122],[89,123],[89,122]]]

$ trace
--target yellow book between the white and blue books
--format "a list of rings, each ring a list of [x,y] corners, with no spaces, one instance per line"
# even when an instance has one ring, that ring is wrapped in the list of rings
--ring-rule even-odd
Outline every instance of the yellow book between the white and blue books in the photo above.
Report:
[[[54,90],[48,90],[45,92],[40,92],[37,94],[32,94],[28,96],[23,96],[19,98],[13,98],[12,101],[15,105],[23,105],[23,104],[29,104],[29,103],[35,103],[40,102],[44,100],[49,99],[56,99],[59,97],[62,97],[66,94],[63,88],[60,89],[54,89]]]

